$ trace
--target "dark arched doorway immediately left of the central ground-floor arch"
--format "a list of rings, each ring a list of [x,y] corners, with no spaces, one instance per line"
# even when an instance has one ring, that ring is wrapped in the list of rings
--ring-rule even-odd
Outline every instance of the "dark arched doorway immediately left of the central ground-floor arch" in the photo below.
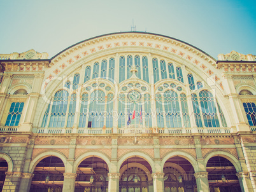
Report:
[[[101,158],[86,158],[76,169],[75,192],[108,192],[108,172],[108,165]]]

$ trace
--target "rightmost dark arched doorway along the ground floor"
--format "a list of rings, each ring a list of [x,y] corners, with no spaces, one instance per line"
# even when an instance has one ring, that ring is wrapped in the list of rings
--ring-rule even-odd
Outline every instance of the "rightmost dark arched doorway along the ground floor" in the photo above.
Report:
[[[206,165],[211,192],[241,192],[236,168],[222,156],[213,156]]]

